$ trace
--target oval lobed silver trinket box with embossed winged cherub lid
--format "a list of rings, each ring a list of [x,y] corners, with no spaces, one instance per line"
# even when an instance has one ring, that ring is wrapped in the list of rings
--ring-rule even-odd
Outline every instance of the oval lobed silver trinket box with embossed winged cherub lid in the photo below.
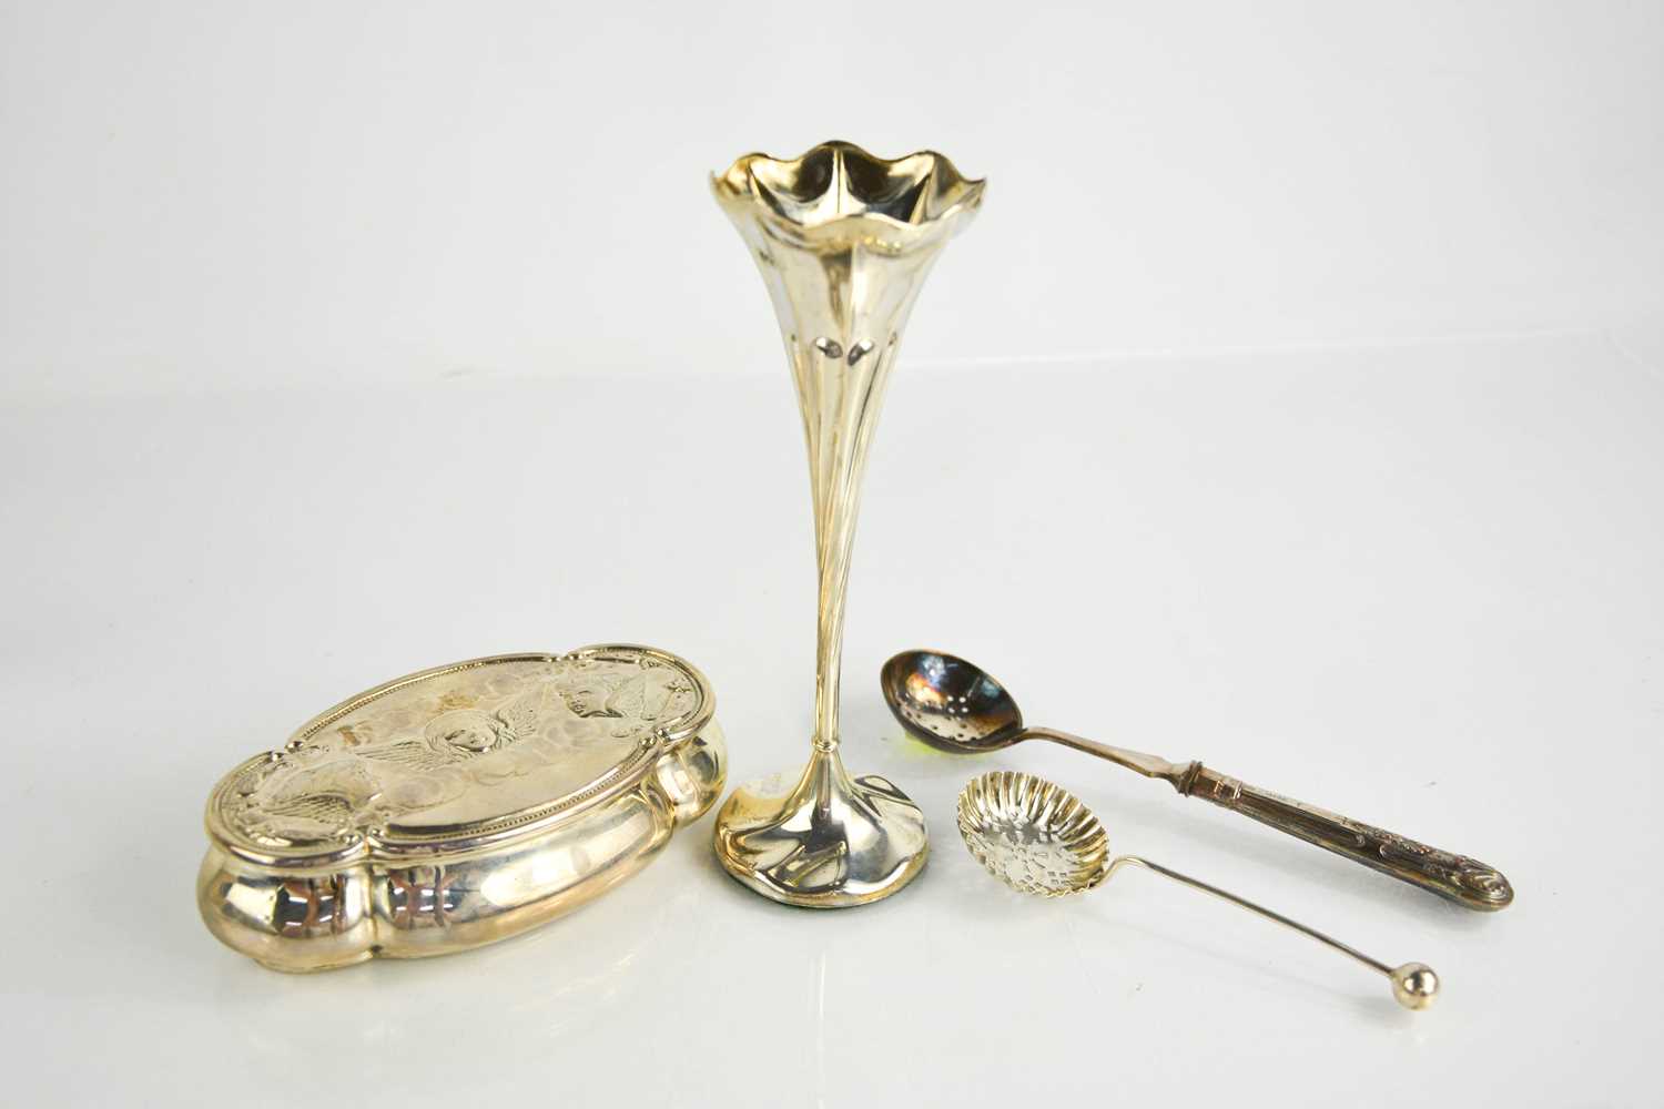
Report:
[[[714,708],[691,663],[627,643],[396,678],[220,780],[196,904],[281,971],[519,934],[711,808],[727,766]]]

